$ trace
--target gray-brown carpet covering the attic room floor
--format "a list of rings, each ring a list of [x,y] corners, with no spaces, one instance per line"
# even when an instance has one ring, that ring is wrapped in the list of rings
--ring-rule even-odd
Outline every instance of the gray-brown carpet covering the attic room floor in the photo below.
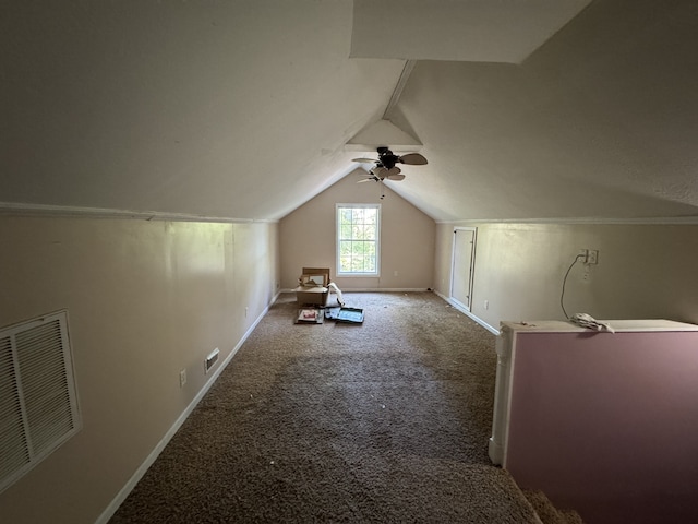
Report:
[[[486,454],[494,335],[431,293],[345,299],[362,325],[284,295],[110,522],[537,522]]]

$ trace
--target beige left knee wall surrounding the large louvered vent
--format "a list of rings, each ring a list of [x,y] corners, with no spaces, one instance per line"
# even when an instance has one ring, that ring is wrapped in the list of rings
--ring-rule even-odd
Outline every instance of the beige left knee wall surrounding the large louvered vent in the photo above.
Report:
[[[0,325],[68,309],[83,416],[0,522],[93,523],[273,300],[278,226],[0,217]]]

